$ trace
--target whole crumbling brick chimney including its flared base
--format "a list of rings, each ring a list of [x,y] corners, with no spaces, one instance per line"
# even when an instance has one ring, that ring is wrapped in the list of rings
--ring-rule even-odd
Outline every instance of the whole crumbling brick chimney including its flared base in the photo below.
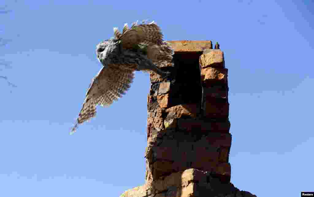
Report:
[[[255,196],[230,183],[228,69],[219,44],[169,41],[172,62],[151,73],[146,173],[125,197]]]

